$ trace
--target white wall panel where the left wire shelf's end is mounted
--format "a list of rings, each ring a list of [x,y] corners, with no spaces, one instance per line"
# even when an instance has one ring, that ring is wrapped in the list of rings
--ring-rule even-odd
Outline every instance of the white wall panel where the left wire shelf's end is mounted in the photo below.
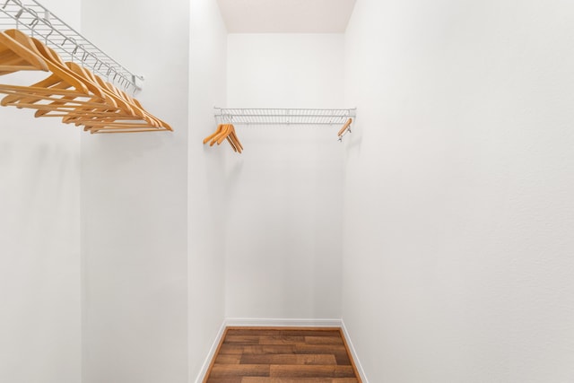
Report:
[[[189,3],[84,0],[173,133],[83,135],[83,383],[187,381]]]

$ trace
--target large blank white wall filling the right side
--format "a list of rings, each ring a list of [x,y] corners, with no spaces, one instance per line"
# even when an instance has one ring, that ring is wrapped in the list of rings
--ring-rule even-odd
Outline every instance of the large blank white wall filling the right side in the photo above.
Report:
[[[574,377],[573,12],[357,2],[343,318],[370,381]]]

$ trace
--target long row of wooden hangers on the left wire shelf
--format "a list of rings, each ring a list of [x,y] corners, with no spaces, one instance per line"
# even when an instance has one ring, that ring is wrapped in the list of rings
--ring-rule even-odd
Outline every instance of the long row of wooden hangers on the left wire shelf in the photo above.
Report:
[[[30,86],[0,83],[2,106],[35,109],[34,116],[62,118],[90,133],[173,130],[138,100],[90,70],[64,62],[57,52],[20,30],[0,31],[0,76],[18,71],[51,72]]]

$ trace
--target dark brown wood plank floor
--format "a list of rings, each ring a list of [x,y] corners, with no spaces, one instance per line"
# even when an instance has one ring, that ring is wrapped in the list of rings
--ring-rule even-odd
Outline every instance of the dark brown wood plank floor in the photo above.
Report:
[[[338,328],[228,327],[204,383],[361,383]]]

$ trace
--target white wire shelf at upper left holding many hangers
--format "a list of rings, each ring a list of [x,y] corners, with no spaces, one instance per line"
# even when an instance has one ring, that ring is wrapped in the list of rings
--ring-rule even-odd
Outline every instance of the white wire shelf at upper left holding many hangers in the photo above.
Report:
[[[0,4],[0,29],[26,31],[55,49],[65,61],[80,63],[133,94],[142,90],[142,76],[132,74],[118,64],[36,0],[0,0]]]

